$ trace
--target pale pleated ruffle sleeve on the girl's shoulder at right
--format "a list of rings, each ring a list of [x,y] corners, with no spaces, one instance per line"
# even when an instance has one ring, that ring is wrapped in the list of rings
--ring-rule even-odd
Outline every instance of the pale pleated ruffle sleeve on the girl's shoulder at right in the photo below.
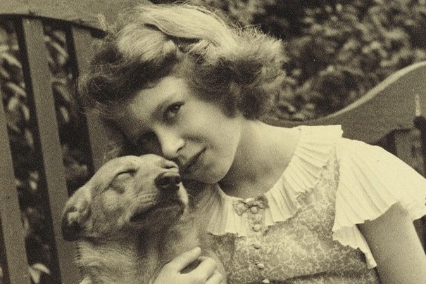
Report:
[[[342,138],[337,143],[339,187],[333,238],[364,252],[370,268],[377,264],[356,227],[376,219],[400,202],[411,218],[426,214],[426,179],[378,146]]]

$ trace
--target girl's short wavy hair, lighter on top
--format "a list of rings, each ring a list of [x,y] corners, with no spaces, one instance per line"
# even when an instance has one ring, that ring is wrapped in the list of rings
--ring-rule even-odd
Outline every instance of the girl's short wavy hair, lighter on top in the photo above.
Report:
[[[282,88],[282,42],[255,27],[190,4],[147,4],[125,11],[82,79],[80,93],[104,117],[161,77],[178,74],[228,115],[255,119]]]

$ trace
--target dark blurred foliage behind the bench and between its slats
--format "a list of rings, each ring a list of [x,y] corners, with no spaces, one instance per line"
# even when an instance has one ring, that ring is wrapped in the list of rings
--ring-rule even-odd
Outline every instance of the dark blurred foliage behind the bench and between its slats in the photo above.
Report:
[[[396,70],[426,60],[426,0],[192,2],[217,8],[241,25],[256,25],[284,40],[287,79],[267,115],[278,120],[311,120],[336,112]],[[72,193],[90,176],[84,117],[73,96],[76,63],[69,59],[68,39],[61,26],[46,22],[44,34],[68,192]],[[0,18],[0,93],[31,278],[33,283],[54,283],[54,238],[39,179],[20,40],[13,19]]]

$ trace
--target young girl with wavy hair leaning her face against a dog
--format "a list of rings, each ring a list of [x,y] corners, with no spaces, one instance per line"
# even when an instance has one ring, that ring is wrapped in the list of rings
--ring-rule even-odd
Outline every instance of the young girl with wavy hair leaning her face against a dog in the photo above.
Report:
[[[185,4],[125,19],[82,93],[130,153],[179,164],[229,283],[426,283],[422,176],[339,126],[258,120],[284,77],[279,40]],[[200,253],[155,283],[220,283],[213,259],[181,273]]]

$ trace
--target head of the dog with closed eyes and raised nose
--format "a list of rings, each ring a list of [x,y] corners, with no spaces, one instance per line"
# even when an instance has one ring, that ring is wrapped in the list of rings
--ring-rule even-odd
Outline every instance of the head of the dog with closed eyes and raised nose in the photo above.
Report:
[[[66,202],[65,240],[119,238],[173,224],[188,205],[177,165],[157,155],[106,162]]]

